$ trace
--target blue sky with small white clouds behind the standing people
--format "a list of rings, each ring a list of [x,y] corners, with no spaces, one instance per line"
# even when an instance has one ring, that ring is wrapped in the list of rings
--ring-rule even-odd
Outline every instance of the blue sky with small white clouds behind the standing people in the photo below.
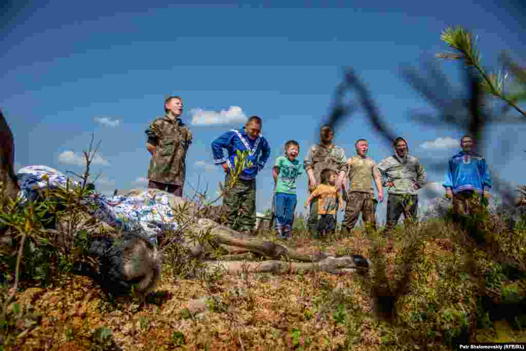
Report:
[[[520,58],[526,58],[522,18],[511,5],[450,0],[308,3],[310,8],[303,2],[264,4],[53,1],[21,9],[2,32],[6,49],[0,57],[0,107],[15,135],[17,167],[43,164],[78,173],[83,168],[78,157],[93,132],[96,141],[102,139],[93,166],[94,174],[103,172],[98,188],[110,193],[145,187],[144,130],[163,114],[166,96],[180,95],[183,119],[194,134],[188,195],[198,177],[201,190],[209,184],[210,196],[224,178],[213,166],[211,141],[241,127],[244,116],[263,118],[272,153],[257,179],[262,212],[270,206],[270,168],[282,145],[296,139],[300,158],[305,157],[330,113],[343,67],[353,67],[367,83],[381,115],[408,139],[410,154],[445,160],[458,151],[463,133],[409,121],[412,109],[432,113],[433,108],[404,81],[401,67],[419,68],[423,59],[449,51],[439,39],[449,25],[479,35],[487,67],[498,67],[501,50],[522,64]],[[460,65],[439,66],[458,86]],[[488,162],[519,184],[526,142],[518,136],[524,132],[519,125],[493,126],[485,149]],[[369,156],[376,161],[392,153],[362,112],[338,129],[335,142],[349,157],[357,138],[369,139]],[[514,156],[497,166],[502,138],[512,141]],[[428,179],[442,177],[429,173]],[[306,177],[299,179],[298,211],[306,189]],[[383,213],[385,204],[379,209]]]

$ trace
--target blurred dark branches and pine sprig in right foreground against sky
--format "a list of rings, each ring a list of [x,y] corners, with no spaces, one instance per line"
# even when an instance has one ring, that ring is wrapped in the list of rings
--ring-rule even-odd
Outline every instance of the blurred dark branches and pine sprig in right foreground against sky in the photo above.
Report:
[[[522,116],[506,116],[509,107],[514,107],[522,115],[526,113],[516,104],[520,99],[526,98],[526,71],[518,65],[513,64],[507,56],[502,55],[502,60],[509,66],[509,73],[495,76],[488,75],[480,64],[480,53],[477,51],[471,34],[463,29],[448,29],[442,33],[442,40],[452,47],[461,51],[461,54],[440,54],[441,58],[463,58],[466,64],[476,69],[463,69],[464,87],[453,89],[448,77],[436,64],[424,62],[420,72],[416,68],[402,67],[403,78],[416,90],[431,106],[436,109],[436,115],[411,112],[411,119],[426,126],[451,126],[460,131],[461,134],[469,134],[474,138],[476,151],[483,154],[483,146],[487,141],[487,127],[490,124],[499,123],[524,123],[526,118]],[[505,94],[503,83],[510,74],[515,77],[514,94]],[[522,90],[521,90],[522,89]],[[351,95],[349,98],[347,96]],[[484,102],[485,95],[491,93],[500,97],[508,104],[508,108],[490,108]],[[398,136],[393,131],[387,119],[381,116],[377,104],[371,98],[366,85],[360,80],[352,68],[347,68],[343,82],[336,89],[335,103],[331,115],[325,124],[330,124],[335,132],[343,123],[348,123],[352,115],[362,108],[369,117],[369,121],[375,127],[380,137],[391,147],[392,141]],[[509,159],[512,142],[507,137],[500,145],[501,155],[498,157],[499,169]],[[444,172],[447,161],[433,161],[429,157],[422,158],[421,163],[431,172]],[[515,203],[517,189],[515,191],[507,184],[500,175],[492,173],[495,184],[494,190],[499,193],[503,202]]]

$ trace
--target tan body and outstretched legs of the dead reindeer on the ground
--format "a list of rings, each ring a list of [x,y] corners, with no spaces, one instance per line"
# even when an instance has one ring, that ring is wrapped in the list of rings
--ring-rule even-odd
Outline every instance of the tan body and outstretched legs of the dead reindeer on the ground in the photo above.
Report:
[[[144,193],[144,189],[131,189],[125,196],[134,197]],[[279,242],[269,240],[260,236],[249,236],[232,230],[217,222],[220,217],[221,206],[213,208],[203,208],[197,203],[186,202],[181,197],[174,196],[157,189],[148,189],[149,195],[155,197],[164,195],[168,197],[171,208],[176,213],[185,213],[180,216],[181,223],[186,224],[186,232],[193,233],[195,236],[208,233],[210,239],[205,243],[198,243],[190,237],[184,236],[177,241],[177,245],[183,246],[191,257],[199,259],[213,271],[217,268],[224,270],[228,274],[237,274],[243,269],[251,273],[299,273],[309,271],[319,271],[345,274],[356,270],[367,270],[371,263],[360,255],[335,257],[327,253],[316,253],[313,255],[298,253],[295,249],[289,248]],[[207,218],[208,217],[208,218]],[[210,219],[213,218],[213,219]],[[215,220],[214,220],[215,219]],[[172,245],[167,243],[166,245]],[[161,250],[165,246],[161,245]],[[227,260],[207,260],[209,253],[214,248],[220,248],[228,256]],[[252,253],[256,256],[267,257],[263,262],[247,263],[235,260],[236,255]],[[233,259],[233,260],[232,260]]]

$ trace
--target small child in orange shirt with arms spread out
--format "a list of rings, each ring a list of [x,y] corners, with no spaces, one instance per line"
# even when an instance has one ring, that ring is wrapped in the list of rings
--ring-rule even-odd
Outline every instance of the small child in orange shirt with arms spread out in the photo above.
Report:
[[[334,232],[336,229],[336,212],[338,210],[338,203],[341,210],[345,210],[343,206],[343,198],[341,192],[336,190],[337,174],[332,169],[325,168],[321,171],[321,184],[310,194],[305,208],[309,208],[310,202],[313,198],[318,199],[318,236],[322,238],[328,233]],[[338,200],[337,200],[338,199]]]

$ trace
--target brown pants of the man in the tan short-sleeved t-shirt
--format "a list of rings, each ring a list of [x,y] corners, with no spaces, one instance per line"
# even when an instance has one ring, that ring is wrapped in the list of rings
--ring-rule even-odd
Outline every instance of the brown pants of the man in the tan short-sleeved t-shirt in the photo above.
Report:
[[[371,222],[376,230],[375,201],[370,193],[351,192],[347,197],[345,206],[345,217],[343,217],[343,227],[349,232],[358,222],[358,217],[362,214],[363,222]]]

